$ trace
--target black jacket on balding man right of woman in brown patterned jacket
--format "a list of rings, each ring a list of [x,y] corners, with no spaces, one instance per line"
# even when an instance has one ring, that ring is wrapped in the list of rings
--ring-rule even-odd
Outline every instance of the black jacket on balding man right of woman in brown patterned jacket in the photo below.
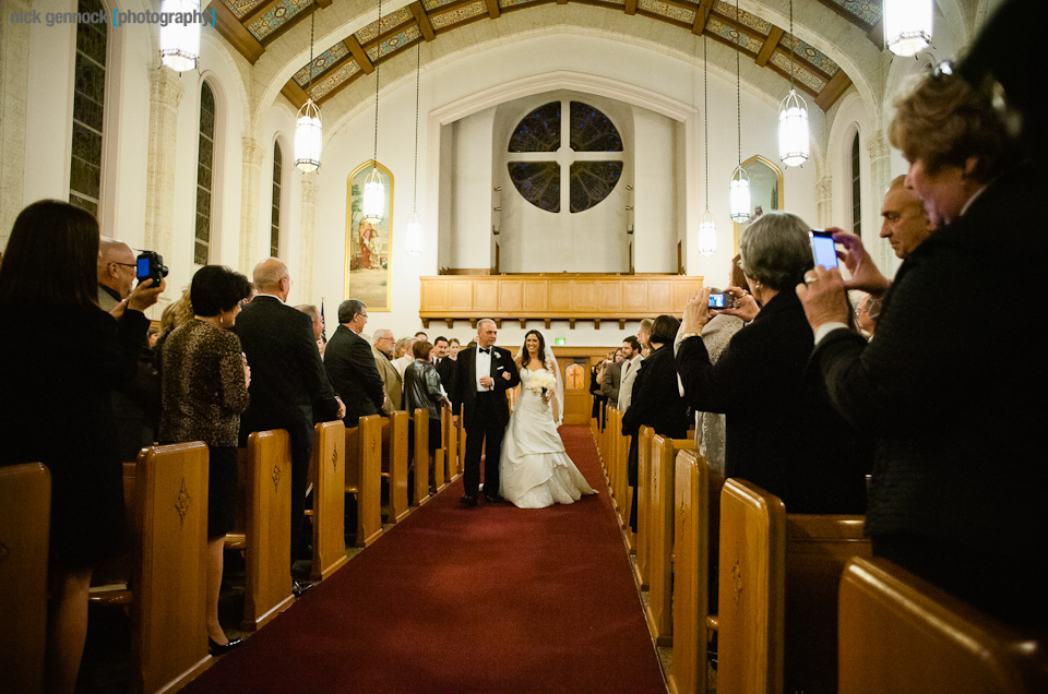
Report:
[[[312,321],[275,297],[259,295],[243,307],[233,331],[251,369],[251,404],[240,416],[240,445],[247,445],[252,431],[270,429],[287,429],[293,445],[312,441],[313,423],[338,414]]]

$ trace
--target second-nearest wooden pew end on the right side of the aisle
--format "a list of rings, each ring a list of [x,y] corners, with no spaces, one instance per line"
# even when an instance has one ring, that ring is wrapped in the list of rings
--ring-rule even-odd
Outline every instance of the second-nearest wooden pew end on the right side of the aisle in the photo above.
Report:
[[[783,692],[786,507],[739,479],[720,493],[717,694]]]

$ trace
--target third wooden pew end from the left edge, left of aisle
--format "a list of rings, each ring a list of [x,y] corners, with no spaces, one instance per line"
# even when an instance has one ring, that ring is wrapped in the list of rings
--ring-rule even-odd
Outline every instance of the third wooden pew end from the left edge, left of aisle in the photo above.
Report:
[[[290,572],[291,444],[287,431],[251,433],[240,470],[247,501],[240,627],[254,631],[295,600]]]

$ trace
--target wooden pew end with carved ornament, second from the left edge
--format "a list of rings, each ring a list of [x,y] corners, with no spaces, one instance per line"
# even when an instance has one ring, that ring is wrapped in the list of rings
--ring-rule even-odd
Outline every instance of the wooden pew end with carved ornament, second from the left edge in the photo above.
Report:
[[[135,692],[178,690],[213,662],[205,621],[207,467],[207,446],[199,441],[139,453],[131,528]]]

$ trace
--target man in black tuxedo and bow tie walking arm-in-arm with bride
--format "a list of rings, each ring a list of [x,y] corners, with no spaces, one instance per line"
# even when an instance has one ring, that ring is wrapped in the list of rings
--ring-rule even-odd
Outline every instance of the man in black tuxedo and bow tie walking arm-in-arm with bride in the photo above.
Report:
[[[509,350],[493,346],[497,334],[495,321],[481,319],[477,323],[477,347],[458,352],[452,400],[456,409],[462,407],[466,430],[465,494],[462,496],[466,506],[477,505],[481,448],[484,496],[489,503],[499,501],[499,457],[505,424],[510,421],[505,392],[521,382]]]

